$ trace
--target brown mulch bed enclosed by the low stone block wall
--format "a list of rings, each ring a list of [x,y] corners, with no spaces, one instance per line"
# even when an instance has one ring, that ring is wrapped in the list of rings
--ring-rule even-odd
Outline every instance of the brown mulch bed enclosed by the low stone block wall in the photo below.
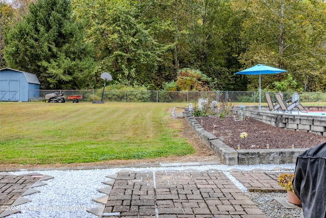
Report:
[[[326,141],[325,136],[304,131],[293,131],[277,128],[252,118],[246,120],[234,120],[233,116],[220,118],[218,116],[196,117],[198,123],[203,128],[222,140],[233,149],[290,149],[312,148],[317,144]],[[240,133],[247,132],[248,136],[244,139]]]

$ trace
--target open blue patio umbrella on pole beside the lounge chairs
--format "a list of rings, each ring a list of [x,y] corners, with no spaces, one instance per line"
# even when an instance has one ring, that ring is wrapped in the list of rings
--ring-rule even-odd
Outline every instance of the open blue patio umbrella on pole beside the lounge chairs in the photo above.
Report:
[[[279,69],[271,66],[266,66],[263,64],[257,64],[253,67],[241,70],[235,74],[245,74],[245,75],[259,75],[259,110],[261,109],[261,83],[260,75],[262,74],[279,74],[280,72],[286,72],[287,70]]]

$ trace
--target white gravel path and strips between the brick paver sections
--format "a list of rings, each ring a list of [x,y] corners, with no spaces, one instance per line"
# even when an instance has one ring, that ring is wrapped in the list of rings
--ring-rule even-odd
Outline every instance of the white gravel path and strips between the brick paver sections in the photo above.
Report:
[[[234,184],[242,191],[246,188],[239,183],[228,171],[238,169],[240,171],[270,171],[276,167],[295,169],[295,164],[279,164],[279,165],[199,165],[199,166],[177,166],[177,167],[146,167],[146,168],[108,168],[108,169],[85,169],[76,171],[20,171],[10,172],[14,175],[37,172],[43,175],[53,176],[54,178],[45,181],[47,185],[36,187],[39,193],[26,196],[32,200],[23,205],[17,206],[21,213],[7,216],[13,217],[90,217],[98,216],[87,212],[86,210],[100,206],[92,199],[105,196],[98,189],[107,187],[102,182],[110,180],[105,176],[116,174],[126,169],[129,171],[223,171],[225,175],[234,182]]]

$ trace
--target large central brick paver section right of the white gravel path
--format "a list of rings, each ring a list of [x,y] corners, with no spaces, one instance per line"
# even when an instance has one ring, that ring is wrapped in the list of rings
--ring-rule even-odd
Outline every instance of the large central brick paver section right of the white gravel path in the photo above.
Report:
[[[119,173],[104,213],[122,217],[267,217],[223,172]]]

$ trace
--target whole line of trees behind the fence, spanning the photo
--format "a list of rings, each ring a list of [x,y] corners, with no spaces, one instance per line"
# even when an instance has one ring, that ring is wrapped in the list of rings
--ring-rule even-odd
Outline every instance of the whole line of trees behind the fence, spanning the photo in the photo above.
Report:
[[[0,68],[42,89],[102,86],[324,91],[326,3],[317,0],[0,0]]]

